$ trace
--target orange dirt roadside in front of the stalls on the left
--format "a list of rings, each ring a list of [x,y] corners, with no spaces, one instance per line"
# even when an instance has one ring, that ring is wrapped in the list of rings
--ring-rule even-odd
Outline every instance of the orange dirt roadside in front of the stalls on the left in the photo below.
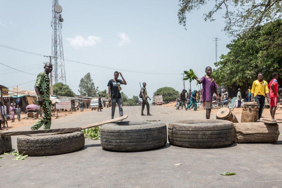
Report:
[[[86,109],[84,108],[83,112],[81,112],[80,110],[73,111],[73,112],[59,111],[58,116],[57,116],[57,114],[55,114],[55,116],[52,116],[51,118],[52,118],[52,120],[60,119],[60,118],[64,118],[64,117],[69,117],[69,116],[73,116],[73,115],[87,113],[89,111],[91,111],[91,109],[89,109],[89,108],[86,108]],[[93,110],[93,111],[97,112],[97,110]],[[25,114],[21,114],[21,121],[18,121],[17,116],[15,115],[15,122],[11,122],[11,120],[8,120],[8,126],[9,127],[3,128],[3,131],[4,130],[10,130],[10,129],[16,129],[16,128],[20,128],[20,127],[32,126],[40,118],[39,117],[39,118],[34,119],[34,118],[29,117],[28,119],[24,119],[24,117],[25,117]]]

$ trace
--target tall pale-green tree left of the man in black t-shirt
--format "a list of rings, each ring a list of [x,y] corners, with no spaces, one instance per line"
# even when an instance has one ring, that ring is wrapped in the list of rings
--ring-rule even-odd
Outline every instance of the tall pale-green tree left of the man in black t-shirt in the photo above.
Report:
[[[79,93],[88,97],[97,97],[98,87],[95,88],[95,84],[91,78],[90,73],[87,73],[83,78],[80,79]]]

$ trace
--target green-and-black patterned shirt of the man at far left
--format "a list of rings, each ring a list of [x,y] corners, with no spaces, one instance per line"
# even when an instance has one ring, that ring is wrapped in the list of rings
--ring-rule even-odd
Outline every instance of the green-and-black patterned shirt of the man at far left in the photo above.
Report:
[[[50,79],[42,72],[37,75],[34,87],[39,88],[39,94],[42,100],[50,100]]]

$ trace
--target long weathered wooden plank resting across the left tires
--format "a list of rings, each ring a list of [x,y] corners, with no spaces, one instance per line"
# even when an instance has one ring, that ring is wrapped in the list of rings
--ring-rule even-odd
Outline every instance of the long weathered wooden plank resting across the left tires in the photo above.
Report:
[[[90,124],[90,125],[86,125],[86,126],[82,126],[82,127],[77,127],[77,128],[59,128],[59,129],[45,129],[45,130],[1,132],[0,137],[27,135],[27,134],[56,133],[56,132],[70,133],[70,132],[80,131],[80,130],[83,130],[83,129],[101,126],[101,125],[108,124],[108,123],[114,123],[116,121],[121,121],[123,119],[126,119],[127,117],[128,117],[128,115],[118,117],[118,118],[114,118],[114,119],[109,119],[109,120],[106,120],[106,121],[100,121],[98,123],[94,123],[94,124]]]

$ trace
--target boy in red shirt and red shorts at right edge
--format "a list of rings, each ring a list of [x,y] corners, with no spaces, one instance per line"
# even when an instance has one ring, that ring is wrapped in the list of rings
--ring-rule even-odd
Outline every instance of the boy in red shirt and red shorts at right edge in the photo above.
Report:
[[[268,84],[268,88],[270,90],[270,114],[271,114],[271,119],[274,119],[274,115],[276,112],[276,107],[278,103],[278,74],[277,73],[272,73],[272,80]]]

